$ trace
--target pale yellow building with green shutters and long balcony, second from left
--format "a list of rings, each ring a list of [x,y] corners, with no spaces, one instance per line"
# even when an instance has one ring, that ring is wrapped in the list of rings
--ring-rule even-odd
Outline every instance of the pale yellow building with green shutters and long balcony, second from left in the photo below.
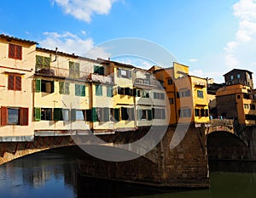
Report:
[[[90,130],[90,61],[44,48],[37,48],[35,58],[35,134]]]

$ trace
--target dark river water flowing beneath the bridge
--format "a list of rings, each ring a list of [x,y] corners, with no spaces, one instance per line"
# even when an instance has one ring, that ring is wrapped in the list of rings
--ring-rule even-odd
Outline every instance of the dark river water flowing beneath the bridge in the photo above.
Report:
[[[1,198],[252,198],[256,197],[256,162],[213,161],[209,190],[163,190],[81,178],[76,158],[63,150],[25,156],[0,166]]]

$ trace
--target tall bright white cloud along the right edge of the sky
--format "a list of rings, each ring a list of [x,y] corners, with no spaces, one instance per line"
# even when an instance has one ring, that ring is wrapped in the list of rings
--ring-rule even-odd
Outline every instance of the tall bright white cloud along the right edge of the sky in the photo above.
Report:
[[[233,6],[233,11],[239,26],[236,39],[228,42],[224,48],[225,65],[229,69],[236,67],[255,73],[256,0],[240,0]]]

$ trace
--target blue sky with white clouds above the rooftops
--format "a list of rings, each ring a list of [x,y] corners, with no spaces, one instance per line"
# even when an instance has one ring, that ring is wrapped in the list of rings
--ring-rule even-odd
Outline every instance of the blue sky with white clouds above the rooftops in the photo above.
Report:
[[[43,48],[84,55],[102,42],[133,37],[165,48],[195,76],[223,82],[233,68],[256,73],[255,0],[2,0],[0,15],[0,33]],[[106,48],[94,49],[113,58]]]

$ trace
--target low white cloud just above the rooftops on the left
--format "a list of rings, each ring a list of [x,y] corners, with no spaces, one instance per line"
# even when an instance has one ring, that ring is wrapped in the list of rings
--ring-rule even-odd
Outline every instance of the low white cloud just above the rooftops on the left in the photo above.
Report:
[[[108,59],[110,54],[104,48],[94,47],[92,38],[82,38],[66,31],[63,33],[44,32],[45,38],[39,41],[41,48],[55,49],[67,54],[76,54],[91,59]]]

